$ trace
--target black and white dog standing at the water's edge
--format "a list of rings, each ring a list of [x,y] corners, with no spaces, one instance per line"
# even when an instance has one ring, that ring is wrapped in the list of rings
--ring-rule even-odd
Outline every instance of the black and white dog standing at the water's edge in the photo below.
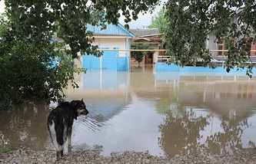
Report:
[[[74,119],[80,115],[87,115],[84,101],[72,100],[71,103],[60,103],[48,116],[47,126],[52,143],[56,148],[57,160],[63,156],[64,145],[68,136],[68,149],[71,149],[71,132]]]

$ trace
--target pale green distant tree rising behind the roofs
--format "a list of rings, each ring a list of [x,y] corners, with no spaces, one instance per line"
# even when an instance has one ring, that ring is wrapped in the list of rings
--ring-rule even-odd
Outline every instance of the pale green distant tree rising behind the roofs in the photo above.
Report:
[[[165,8],[161,8],[157,15],[152,16],[150,28],[158,28],[160,33],[164,32],[166,27]]]

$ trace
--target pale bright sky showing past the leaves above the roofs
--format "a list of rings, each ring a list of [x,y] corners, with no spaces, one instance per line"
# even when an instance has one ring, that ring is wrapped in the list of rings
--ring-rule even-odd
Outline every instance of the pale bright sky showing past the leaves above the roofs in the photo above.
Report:
[[[130,23],[128,23],[128,25],[130,26],[130,28],[142,28],[142,25],[151,25],[151,18],[152,16],[157,15],[158,11],[162,8],[162,4],[163,2],[165,2],[166,0],[162,0],[161,5],[157,6],[155,8],[155,11],[152,12],[152,14],[145,14],[142,15],[141,13],[138,15],[138,19],[136,21],[131,21]],[[5,2],[2,0],[0,0],[0,13],[2,13],[5,10]],[[125,25],[125,21],[124,21],[124,17],[121,17],[119,19],[119,22],[121,23],[121,25]]]

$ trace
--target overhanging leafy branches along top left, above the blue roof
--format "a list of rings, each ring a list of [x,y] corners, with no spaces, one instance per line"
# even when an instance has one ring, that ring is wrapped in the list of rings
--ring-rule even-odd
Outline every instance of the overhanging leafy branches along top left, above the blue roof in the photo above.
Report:
[[[125,22],[131,17],[138,18],[139,12],[147,12],[155,8],[158,1],[38,1],[28,0],[16,2],[6,0],[9,19],[15,22],[16,28],[22,37],[32,36],[32,39],[41,42],[52,37],[54,32],[69,44],[72,57],[77,57],[79,51],[88,51],[88,54],[99,56],[98,51],[90,48],[91,33],[85,25],[104,25],[105,22],[118,24],[120,13],[125,15]]]

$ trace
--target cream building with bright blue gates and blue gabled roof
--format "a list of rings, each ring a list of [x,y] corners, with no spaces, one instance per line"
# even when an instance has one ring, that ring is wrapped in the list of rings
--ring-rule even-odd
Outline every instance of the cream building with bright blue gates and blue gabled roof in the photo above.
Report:
[[[130,65],[131,38],[135,37],[121,24],[101,26],[87,25],[88,31],[94,34],[94,45],[103,51],[101,57],[91,54],[82,55],[82,66],[85,69],[114,69],[116,71],[128,71]],[[105,50],[105,51],[104,51]]]

